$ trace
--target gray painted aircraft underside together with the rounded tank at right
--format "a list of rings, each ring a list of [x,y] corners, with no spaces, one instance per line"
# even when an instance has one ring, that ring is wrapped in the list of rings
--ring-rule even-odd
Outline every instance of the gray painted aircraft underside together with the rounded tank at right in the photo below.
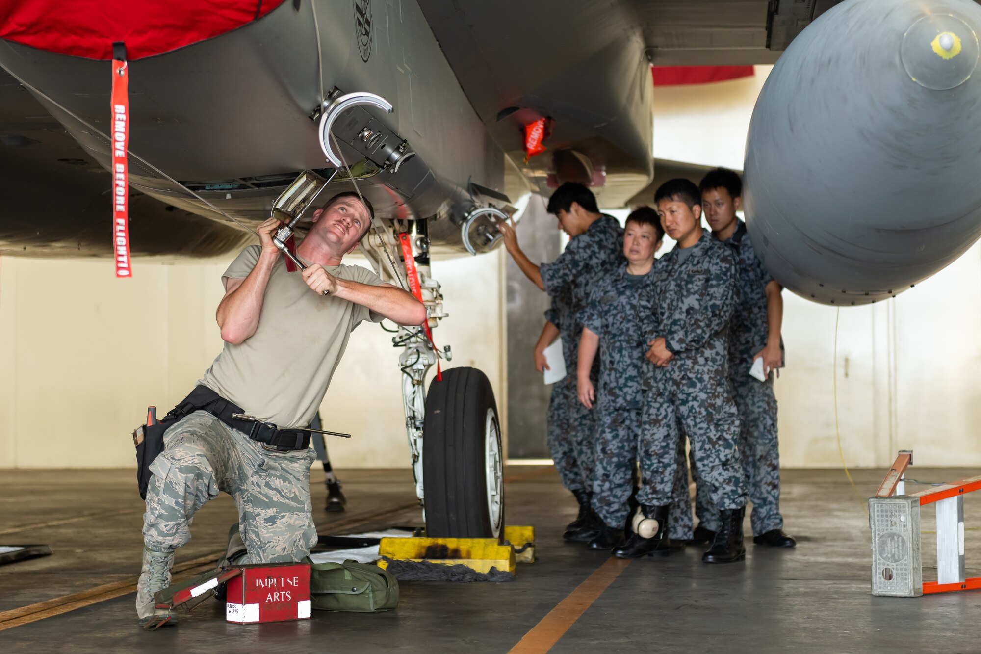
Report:
[[[477,0],[319,1],[318,64],[313,4],[284,3],[228,34],[131,62],[131,150],[183,182],[250,180],[253,188],[201,192],[254,225],[290,175],[325,165],[308,118],[321,82],[379,93],[395,105],[379,118],[418,152],[405,169],[415,177],[406,187],[382,173],[362,189],[383,217],[429,219],[434,253],[456,253],[467,183],[502,190],[505,152],[520,155],[523,118],[553,115],[546,145],[587,152],[606,170],[600,195],[626,200],[651,177],[645,57],[766,63],[776,56],[766,43],[779,48],[820,16],[780,59],[754,112],[749,230],[792,290],[862,303],[924,279],[978,236],[978,161],[964,136],[978,134],[981,82],[975,75],[941,89],[949,81],[928,81],[923,62],[926,73],[913,82],[901,53],[904,32],[928,9],[962,15],[975,31],[979,10],[968,0],[848,0],[829,9],[834,4],[774,13],[765,0],[742,2],[738,11],[725,0],[697,8],[680,0],[502,1],[493,11]],[[955,58],[954,68],[964,59]],[[98,135],[108,63],[4,41],[0,66],[34,87],[43,105],[12,80],[0,84],[5,134],[14,138],[4,141],[2,160],[17,167],[0,182],[14,198],[0,214],[0,251],[109,253],[99,217],[108,202],[97,191],[100,177],[109,186],[97,172],[108,164]],[[511,107],[518,111],[501,114]],[[57,122],[38,121],[45,112]],[[77,143],[58,132],[59,123]],[[70,169],[58,159],[88,164]],[[134,192],[166,205],[133,201],[134,252],[211,255],[247,238],[151,167],[131,163]],[[547,192],[547,163],[538,157],[523,167],[532,188]],[[263,176],[284,181],[255,183]],[[349,188],[336,182],[332,190]]]

